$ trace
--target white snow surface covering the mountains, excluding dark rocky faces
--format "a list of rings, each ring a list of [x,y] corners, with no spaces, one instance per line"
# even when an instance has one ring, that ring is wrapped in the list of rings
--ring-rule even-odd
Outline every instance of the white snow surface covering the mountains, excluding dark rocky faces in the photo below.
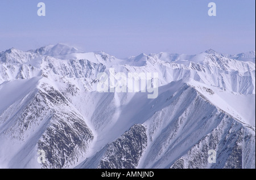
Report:
[[[97,74],[109,74],[110,67],[115,73],[158,72],[158,97],[148,99],[142,92],[97,92]],[[34,119],[28,128],[21,125],[22,131],[15,132],[21,121],[15,114],[24,115],[25,108],[35,108],[30,103],[38,102],[39,95],[43,97],[52,89],[63,95],[68,105],[57,106],[48,98],[41,99],[39,104],[49,107],[41,112],[42,119]],[[219,130],[224,123],[214,121],[219,112],[252,128],[255,136],[255,51],[225,55],[210,49],[196,55],[142,53],[118,59],[104,52],[85,53],[57,44],[28,52],[14,48],[1,52],[0,167],[43,168],[37,162],[38,142],[51,123],[58,123],[49,120],[52,112],[65,109],[85,122],[93,140],[85,143],[86,152],[78,153],[76,162],[67,160],[63,168],[75,168],[95,156],[135,124],[145,126],[148,136],[138,168],[170,168],[171,162],[187,158],[193,145]],[[32,111],[26,113],[24,117]],[[207,122],[204,117],[208,117]],[[179,119],[178,132],[173,129],[175,119]]]

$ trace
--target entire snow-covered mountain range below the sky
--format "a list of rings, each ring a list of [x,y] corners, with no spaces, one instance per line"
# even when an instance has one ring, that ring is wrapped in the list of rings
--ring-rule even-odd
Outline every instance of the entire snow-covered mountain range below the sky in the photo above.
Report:
[[[158,97],[98,92],[110,68],[158,72]],[[0,53],[0,144],[0,168],[255,168],[255,51],[11,48]]]

